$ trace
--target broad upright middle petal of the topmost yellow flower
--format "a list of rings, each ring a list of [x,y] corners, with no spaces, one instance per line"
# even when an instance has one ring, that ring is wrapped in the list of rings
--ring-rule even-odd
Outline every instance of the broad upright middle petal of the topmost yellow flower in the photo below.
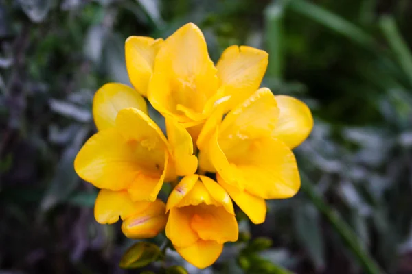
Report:
[[[216,73],[201,30],[188,23],[166,39],[157,53],[148,99],[179,123],[204,119],[200,114],[218,89]]]

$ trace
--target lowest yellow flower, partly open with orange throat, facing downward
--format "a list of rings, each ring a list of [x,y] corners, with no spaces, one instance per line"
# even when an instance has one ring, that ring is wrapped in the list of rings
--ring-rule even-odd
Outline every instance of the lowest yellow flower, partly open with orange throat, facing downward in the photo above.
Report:
[[[238,240],[238,223],[227,192],[209,177],[188,175],[169,196],[166,236],[198,268],[213,264],[225,242]]]

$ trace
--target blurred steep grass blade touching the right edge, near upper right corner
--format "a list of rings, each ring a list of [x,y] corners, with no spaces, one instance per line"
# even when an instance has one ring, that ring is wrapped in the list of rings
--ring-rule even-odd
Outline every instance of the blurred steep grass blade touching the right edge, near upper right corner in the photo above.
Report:
[[[412,54],[407,43],[402,38],[398,27],[396,27],[395,19],[393,19],[392,16],[383,16],[380,18],[379,24],[398,63],[407,75],[409,83],[412,85]]]

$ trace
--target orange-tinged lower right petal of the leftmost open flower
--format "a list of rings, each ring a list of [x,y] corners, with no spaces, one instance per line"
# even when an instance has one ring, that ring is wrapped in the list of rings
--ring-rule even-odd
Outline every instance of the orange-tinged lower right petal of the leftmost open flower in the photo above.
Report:
[[[155,201],[157,195],[165,181],[165,175],[168,172],[169,155],[164,152],[163,172],[161,175],[148,175],[147,173],[140,173],[135,178],[135,183],[130,184],[127,189],[133,201]]]

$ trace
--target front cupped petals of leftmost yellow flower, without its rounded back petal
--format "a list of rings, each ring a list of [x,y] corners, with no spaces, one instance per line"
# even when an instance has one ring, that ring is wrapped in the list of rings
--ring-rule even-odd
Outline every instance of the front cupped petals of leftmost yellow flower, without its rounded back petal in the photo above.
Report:
[[[124,108],[114,127],[87,140],[74,166],[82,179],[98,188],[127,190],[133,201],[155,201],[168,170],[168,146],[161,129],[144,112]]]

